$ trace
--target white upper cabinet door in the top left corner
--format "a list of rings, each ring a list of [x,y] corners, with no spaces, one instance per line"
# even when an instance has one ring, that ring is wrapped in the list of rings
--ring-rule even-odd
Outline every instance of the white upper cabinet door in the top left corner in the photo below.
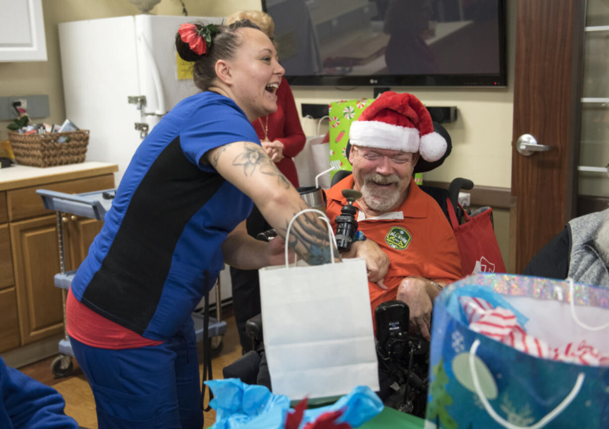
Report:
[[[0,0],[0,61],[46,61],[42,0]]]

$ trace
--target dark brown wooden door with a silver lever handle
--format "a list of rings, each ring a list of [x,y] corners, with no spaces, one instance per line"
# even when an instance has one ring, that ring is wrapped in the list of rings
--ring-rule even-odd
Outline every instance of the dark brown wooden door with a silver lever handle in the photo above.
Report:
[[[585,3],[517,0],[511,272],[522,272],[576,213]],[[523,134],[554,148],[521,155]]]

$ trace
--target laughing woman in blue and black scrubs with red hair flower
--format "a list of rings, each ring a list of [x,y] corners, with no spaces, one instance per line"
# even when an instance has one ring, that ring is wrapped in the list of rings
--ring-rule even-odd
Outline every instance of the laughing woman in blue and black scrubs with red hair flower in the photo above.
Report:
[[[253,203],[283,237],[307,208],[251,125],[276,110],[284,69],[272,41],[247,20],[183,24],[176,48],[201,92],[139,146],[68,294],[68,333],[100,428],[202,427],[191,312],[225,262],[283,261],[280,240],[247,235]],[[292,225],[290,246],[310,264],[330,260],[311,213]]]

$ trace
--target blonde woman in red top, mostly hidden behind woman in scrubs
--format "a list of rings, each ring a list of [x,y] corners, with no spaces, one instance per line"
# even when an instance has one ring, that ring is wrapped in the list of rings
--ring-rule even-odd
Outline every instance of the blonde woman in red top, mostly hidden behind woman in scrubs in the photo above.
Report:
[[[233,13],[225,19],[228,25],[241,19],[249,19],[256,24],[262,32],[273,40],[275,23],[268,13],[261,10],[244,10]],[[273,44],[276,43],[273,41]],[[276,91],[277,110],[266,116],[261,116],[252,122],[262,147],[277,168],[298,188],[298,175],[294,158],[305,147],[305,133],[300,126],[300,118],[296,110],[296,103],[290,85],[281,77],[281,83]],[[258,233],[269,230],[271,227],[260,214],[256,206],[247,218],[247,233],[253,237]],[[260,286],[257,270],[242,270],[231,267],[231,287],[233,289],[233,310],[239,331],[239,339],[243,352],[252,350],[252,341],[245,334],[245,322],[256,314],[260,314]]]

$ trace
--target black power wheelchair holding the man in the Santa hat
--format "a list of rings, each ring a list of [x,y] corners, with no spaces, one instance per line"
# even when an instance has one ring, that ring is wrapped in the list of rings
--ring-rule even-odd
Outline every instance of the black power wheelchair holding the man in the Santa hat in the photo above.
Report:
[[[415,172],[430,171],[441,165],[451,152],[451,138],[443,126],[434,122],[434,130],[440,133],[448,143],[446,154],[438,161],[429,162],[422,158],[415,167]],[[347,158],[351,149],[347,143]],[[349,176],[351,171],[339,170],[334,174],[332,185]],[[463,212],[458,204],[459,191],[471,190],[474,184],[471,180],[457,178],[452,180],[448,189],[435,186],[420,185],[420,189],[428,193],[442,208],[446,220],[451,224],[449,211],[454,211],[459,222]],[[259,236],[265,239],[264,235]],[[269,236],[266,236],[268,241]],[[406,310],[404,310],[406,306]],[[406,316],[404,319],[404,312]],[[379,360],[379,381],[381,391],[379,397],[386,406],[415,416],[424,417],[428,390],[429,342],[421,337],[412,336],[408,332],[408,310],[405,303],[390,301],[382,303],[375,310],[377,321],[377,355]],[[400,336],[383,338],[379,335],[379,327],[384,323],[387,314],[401,318],[403,330]],[[405,322],[404,322],[405,320]],[[258,314],[248,319],[245,332],[252,340],[252,349],[234,363],[225,367],[225,378],[239,378],[244,383],[265,385],[272,390],[270,375],[267,369],[264,343],[262,337],[262,315]]]

